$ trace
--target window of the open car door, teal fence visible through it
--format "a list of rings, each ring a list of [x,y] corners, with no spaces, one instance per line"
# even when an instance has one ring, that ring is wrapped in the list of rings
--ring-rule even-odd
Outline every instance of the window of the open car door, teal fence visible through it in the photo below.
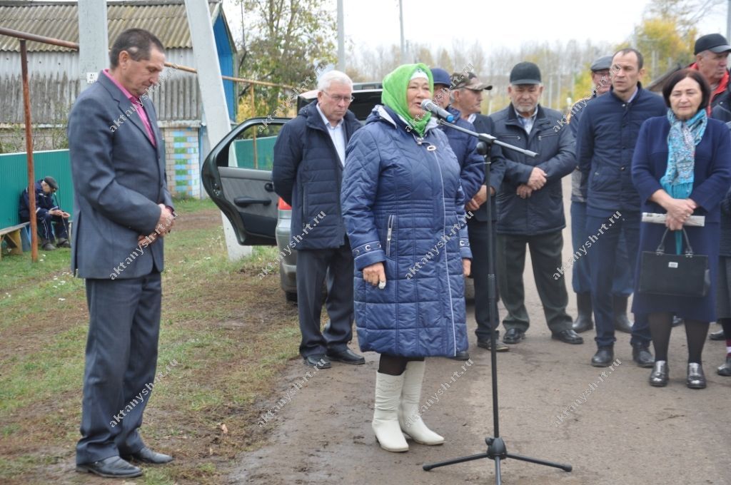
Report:
[[[257,124],[243,129],[229,147],[229,158],[234,157],[241,168],[271,170],[274,143],[281,126]]]

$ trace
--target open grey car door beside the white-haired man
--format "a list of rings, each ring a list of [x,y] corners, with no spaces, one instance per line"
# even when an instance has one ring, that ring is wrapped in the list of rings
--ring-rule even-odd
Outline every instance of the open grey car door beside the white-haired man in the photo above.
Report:
[[[231,222],[240,245],[276,245],[274,142],[289,118],[250,118],[205,158],[203,188]]]

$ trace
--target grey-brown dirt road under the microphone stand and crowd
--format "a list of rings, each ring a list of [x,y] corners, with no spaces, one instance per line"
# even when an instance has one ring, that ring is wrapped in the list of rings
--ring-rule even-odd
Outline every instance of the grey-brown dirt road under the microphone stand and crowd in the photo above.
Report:
[[[568,214],[566,189],[564,184]],[[569,229],[564,241],[565,260],[571,253]],[[731,484],[731,378],[715,373],[725,355],[723,342],[706,345],[708,389],[694,391],[685,386],[685,332],[673,329],[670,384],[653,388],[647,383],[650,370],[632,362],[629,335],[618,334],[621,363],[614,370],[589,364],[594,332],[583,334],[583,345],[550,340],[529,263],[525,280],[531,328],[522,343],[498,355],[501,435],[510,453],[569,463],[573,471],[509,459],[502,464],[504,484]],[[570,274],[567,285],[574,316]],[[377,355],[368,353],[364,366],[335,363],[308,379],[265,424],[267,446],[240,456],[229,483],[495,483],[494,464],[484,459],[422,470],[425,463],[485,451],[484,439],[493,432],[490,356],[475,345],[471,307],[468,318],[473,364],[463,370],[463,362],[427,359],[422,402],[450,383],[423,414],[446,438],[443,446],[409,441],[404,454],[378,446],[371,430]],[[287,400],[287,389],[306,370],[293,361],[279,394],[262,401],[262,409]],[[462,375],[452,382],[455,371]]]

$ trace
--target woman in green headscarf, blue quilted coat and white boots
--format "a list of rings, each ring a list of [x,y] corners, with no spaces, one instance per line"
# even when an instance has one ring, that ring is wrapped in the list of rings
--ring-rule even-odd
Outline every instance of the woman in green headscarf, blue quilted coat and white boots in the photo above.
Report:
[[[355,321],[360,349],[381,354],[372,425],[388,451],[408,451],[402,432],[444,443],[419,413],[424,357],[467,349],[464,196],[447,135],[420,107],[432,91],[425,64],[399,66],[346,150],[341,199]]]

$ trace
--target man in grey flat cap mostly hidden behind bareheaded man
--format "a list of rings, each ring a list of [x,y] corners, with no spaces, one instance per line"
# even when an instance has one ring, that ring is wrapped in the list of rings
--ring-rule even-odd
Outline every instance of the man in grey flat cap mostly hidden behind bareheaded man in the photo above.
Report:
[[[580,99],[574,104],[569,113],[569,128],[574,137],[579,130],[579,119],[586,104],[597,96],[609,92],[612,87],[610,67],[612,56],[602,56],[591,63],[591,81],[594,83],[591,96]],[[586,232],[586,187],[581,186],[581,172],[575,169],[571,175],[571,239],[574,253],[588,239]],[[632,272],[629,270],[629,259],[626,247],[621,243],[617,247],[617,262],[612,280],[612,308],[614,312],[614,328],[620,332],[632,332],[632,322],[627,318],[627,300],[632,294]],[[589,275],[588,259],[581,258],[574,262],[571,280],[576,293],[577,316],[574,321],[576,332],[586,332],[594,328],[591,317],[591,277]]]

